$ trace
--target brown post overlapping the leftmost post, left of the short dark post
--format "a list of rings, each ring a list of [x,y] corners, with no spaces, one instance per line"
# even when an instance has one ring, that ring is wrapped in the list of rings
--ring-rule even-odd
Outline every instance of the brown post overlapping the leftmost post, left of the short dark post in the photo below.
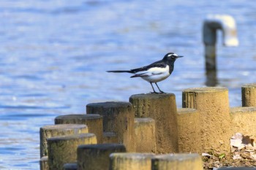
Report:
[[[49,170],[64,169],[64,164],[77,161],[80,144],[97,144],[94,134],[74,134],[48,139]]]

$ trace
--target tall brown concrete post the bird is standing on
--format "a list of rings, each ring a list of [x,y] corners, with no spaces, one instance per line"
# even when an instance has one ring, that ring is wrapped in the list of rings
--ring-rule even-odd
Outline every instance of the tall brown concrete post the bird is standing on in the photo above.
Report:
[[[157,152],[178,152],[176,97],[173,93],[135,94],[129,97],[135,117],[151,117],[156,123]]]

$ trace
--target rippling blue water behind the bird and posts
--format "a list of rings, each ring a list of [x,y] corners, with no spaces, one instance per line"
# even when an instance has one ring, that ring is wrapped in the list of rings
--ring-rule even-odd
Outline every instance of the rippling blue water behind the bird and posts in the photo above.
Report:
[[[218,34],[217,86],[241,105],[241,85],[256,82],[255,1],[0,1],[0,169],[39,169],[39,128],[99,101],[128,101],[151,86],[129,74],[167,52],[184,55],[159,82],[176,94],[206,85],[202,24],[207,14],[236,19],[238,47]]]

